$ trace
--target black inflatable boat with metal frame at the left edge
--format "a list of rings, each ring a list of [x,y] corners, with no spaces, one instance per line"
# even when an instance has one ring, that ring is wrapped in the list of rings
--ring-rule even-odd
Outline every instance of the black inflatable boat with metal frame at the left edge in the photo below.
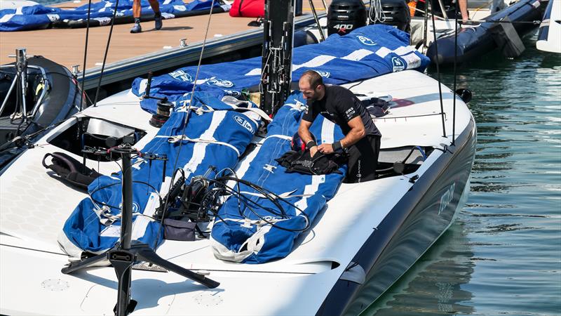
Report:
[[[66,67],[42,56],[27,58],[24,49],[18,56],[18,62],[0,66],[0,168],[81,103]]]

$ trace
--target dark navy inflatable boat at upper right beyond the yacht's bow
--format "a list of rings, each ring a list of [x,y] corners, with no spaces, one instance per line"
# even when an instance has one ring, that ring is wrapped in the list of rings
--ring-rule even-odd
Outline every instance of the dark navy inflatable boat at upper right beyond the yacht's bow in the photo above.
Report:
[[[544,1],[521,0],[489,15],[482,22],[474,25],[464,24],[458,29],[457,62],[469,62],[497,48],[507,57],[520,55],[524,50],[520,37],[539,25],[545,9]],[[455,48],[452,32],[449,36],[440,37],[433,42],[426,55],[439,65],[452,65]]]

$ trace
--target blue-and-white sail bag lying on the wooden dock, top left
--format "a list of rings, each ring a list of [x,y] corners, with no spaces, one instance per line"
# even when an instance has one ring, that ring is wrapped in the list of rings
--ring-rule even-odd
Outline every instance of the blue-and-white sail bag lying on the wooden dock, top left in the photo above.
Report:
[[[109,25],[116,0],[104,0],[91,5],[90,26]],[[210,11],[210,0],[194,0],[185,4],[182,0],[164,0],[160,11],[164,19],[204,14]],[[154,15],[147,0],[140,2],[142,19]],[[215,1],[215,11],[229,11],[229,5]],[[22,31],[25,29],[46,29],[48,27],[86,27],[88,4],[74,9],[53,8],[50,6],[22,6],[17,9],[0,10],[0,31]],[[133,0],[119,0],[115,23],[133,22]]]

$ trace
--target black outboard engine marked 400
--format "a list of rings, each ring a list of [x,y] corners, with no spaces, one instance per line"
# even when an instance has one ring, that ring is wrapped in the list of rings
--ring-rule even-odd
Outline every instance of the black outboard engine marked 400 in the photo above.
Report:
[[[366,8],[362,0],[333,0],[327,10],[327,34],[349,34],[366,25]]]

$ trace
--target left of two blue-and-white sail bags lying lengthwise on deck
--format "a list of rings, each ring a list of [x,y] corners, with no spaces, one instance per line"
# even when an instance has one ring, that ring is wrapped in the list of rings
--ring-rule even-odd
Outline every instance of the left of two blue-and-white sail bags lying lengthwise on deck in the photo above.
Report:
[[[189,100],[189,95],[184,96],[184,100]],[[210,166],[218,170],[234,168],[260,124],[259,116],[250,110],[234,110],[212,96],[196,93],[194,108],[184,129],[187,107],[182,106],[184,102],[178,104],[157,136],[142,149],[142,152],[167,155],[165,182],[162,183],[163,161],[156,160],[150,166],[142,158],[133,160],[132,239],[149,246],[153,246],[156,239],[160,243],[163,239],[158,235],[159,223],[150,216],[160,205],[158,195],[163,197],[169,190],[174,165],[184,170],[187,182],[193,176],[203,175]],[[173,137],[182,136],[183,131],[188,139]],[[149,183],[158,192],[141,182]],[[88,192],[95,201],[90,197],[83,199],[58,238],[62,249],[72,257],[79,258],[82,251],[99,254],[114,246],[120,237],[121,173],[97,178]]]

